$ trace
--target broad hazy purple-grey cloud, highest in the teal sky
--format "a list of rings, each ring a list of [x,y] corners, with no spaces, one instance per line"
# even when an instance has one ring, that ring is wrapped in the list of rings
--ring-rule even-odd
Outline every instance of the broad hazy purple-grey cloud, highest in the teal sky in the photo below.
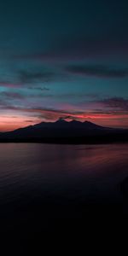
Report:
[[[120,37],[119,35],[106,34],[102,38],[85,36],[77,34],[72,37],[70,35],[61,37],[56,36],[55,41],[51,41],[49,49],[36,51],[36,54],[13,55],[13,59],[30,60],[30,61],[68,61],[83,60],[86,58],[106,57],[106,56],[127,56],[128,55],[128,37]]]

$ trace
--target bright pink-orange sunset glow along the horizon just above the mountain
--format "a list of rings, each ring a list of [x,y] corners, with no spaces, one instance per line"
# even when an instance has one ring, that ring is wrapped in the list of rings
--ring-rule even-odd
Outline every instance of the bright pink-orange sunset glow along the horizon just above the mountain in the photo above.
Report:
[[[96,125],[108,126],[108,127],[122,127],[128,128],[128,114],[113,114],[113,113],[67,113],[59,111],[50,110],[39,110],[39,109],[29,109],[29,113],[42,113],[43,117],[26,117],[25,115],[2,115],[0,117],[0,131],[13,131],[18,128],[26,127],[28,125],[35,125],[42,121],[53,122],[60,117],[65,118],[66,116],[71,116],[70,119],[78,119],[79,121],[88,120],[90,122],[96,123]]]

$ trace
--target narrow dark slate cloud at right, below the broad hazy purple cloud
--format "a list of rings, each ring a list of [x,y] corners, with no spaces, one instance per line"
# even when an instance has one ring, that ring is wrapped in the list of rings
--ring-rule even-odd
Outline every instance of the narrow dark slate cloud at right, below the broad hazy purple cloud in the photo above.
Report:
[[[128,76],[127,69],[116,69],[98,65],[68,65],[65,70],[69,73],[84,76],[95,76],[103,78],[125,78]]]

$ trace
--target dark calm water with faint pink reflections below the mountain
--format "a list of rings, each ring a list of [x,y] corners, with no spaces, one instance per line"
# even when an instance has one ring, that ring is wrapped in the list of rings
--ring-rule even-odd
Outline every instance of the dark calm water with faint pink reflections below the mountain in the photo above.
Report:
[[[3,240],[39,241],[126,222],[126,177],[128,144],[1,143]]]

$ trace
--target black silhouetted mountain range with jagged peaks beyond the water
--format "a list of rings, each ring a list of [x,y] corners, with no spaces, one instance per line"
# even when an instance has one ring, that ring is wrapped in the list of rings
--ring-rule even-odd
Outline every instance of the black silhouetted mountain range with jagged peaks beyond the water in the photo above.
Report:
[[[41,122],[0,134],[0,142],[111,143],[128,141],[128,130],[113,129],[89,121]]]

